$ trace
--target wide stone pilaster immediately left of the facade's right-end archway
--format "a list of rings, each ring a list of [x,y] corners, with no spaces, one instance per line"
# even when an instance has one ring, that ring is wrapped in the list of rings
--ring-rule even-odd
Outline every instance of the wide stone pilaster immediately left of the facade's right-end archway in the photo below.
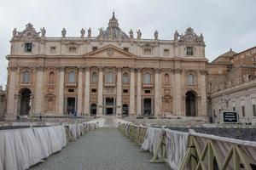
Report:
[[[176,69],[174,70],[174,88],[173,88],[173,94],[174,94],[174,102],[173,102],[173,108],[174,108],[174,115],[181,115],[182,111],[182,97],[181,97],[181,73],[182,70]]]

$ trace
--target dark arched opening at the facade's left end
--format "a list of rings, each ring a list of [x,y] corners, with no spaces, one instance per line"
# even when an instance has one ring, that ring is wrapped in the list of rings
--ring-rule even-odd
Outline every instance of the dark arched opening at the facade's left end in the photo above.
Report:
[[[20,90],[20,116],[29,115],[31,110],[31,90],[22,88]]]

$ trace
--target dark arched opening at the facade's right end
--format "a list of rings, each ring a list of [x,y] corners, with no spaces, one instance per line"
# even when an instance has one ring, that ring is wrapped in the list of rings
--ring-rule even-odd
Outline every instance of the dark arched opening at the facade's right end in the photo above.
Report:
[[[195,97],[196,94],[193,91],[186,93],[186,116],[196,116]]]

